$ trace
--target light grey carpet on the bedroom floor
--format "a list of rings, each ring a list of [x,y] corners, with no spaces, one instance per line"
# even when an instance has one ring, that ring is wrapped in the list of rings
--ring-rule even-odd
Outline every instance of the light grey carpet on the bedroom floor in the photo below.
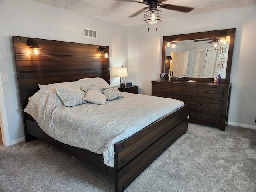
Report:
[[[113,192],[114,178],[35,140],[0,147],[1,192]],[[188,124],[125,192],[256,192],[256,130]]]

